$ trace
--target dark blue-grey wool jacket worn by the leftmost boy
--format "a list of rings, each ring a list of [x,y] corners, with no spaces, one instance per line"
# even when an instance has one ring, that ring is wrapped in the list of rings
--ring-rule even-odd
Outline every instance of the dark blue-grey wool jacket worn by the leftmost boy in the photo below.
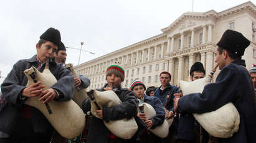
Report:
[[[31,67],[38,67],[36,55],[30,59],[19,60],[14,64],[11,72],[1,85],[2,96],[7,101],[0,112],[0,131],[11,134],[13,126],[19,122],[21,118],[21,109],[26,99],[20,99],[22,90],[26,88],[27,77],[23,73],[24,70]],[[40,68],[40,72],[44,70],[45,64]],[[73,76],[69,70],[65,69],[61,64],[49,62],[49,70],[58,80],[54,88],[60,93],[58,101],[70,100],[73,98]],[[36,108],[31,110],[31,124],[35,132],[44,132],[50,134],[53,131],[50,122]]]

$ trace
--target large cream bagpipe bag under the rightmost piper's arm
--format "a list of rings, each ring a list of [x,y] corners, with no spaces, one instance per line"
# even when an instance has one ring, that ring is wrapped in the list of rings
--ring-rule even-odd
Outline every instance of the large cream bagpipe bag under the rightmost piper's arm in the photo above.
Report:
[[[211,83],[211,80],[210,76],[206,76],[192,82],[180,81],[180,87],[185,96],[190,93],[202,93],[204,86]],[[232,103],[227,103],[210,113],[193,115],[201,126],[214,137],[229,138],[239,129],[240,116]]]

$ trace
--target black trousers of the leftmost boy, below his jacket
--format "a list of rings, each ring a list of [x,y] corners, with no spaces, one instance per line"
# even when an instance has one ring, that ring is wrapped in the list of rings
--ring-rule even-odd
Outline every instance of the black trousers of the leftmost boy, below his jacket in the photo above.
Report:
[[[0,143],[49,143],[50,139],[49,134],[34,132],[31,119],[21,118],[20,122],[14,126],[9,137],[0,138]]]

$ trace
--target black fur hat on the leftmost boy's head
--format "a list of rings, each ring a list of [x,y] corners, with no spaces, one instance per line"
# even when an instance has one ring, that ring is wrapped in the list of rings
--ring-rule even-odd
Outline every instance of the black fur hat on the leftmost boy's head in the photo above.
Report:
[[[40,35],[40,39],[50,41],[59,47],[61,40],[60,32],[59,30],[50,27],[42,35]]]

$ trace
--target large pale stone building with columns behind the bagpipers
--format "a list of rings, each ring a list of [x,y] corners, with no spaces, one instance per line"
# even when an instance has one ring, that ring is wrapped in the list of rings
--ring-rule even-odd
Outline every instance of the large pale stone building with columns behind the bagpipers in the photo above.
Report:
[[[125,70],[123,87],[129,87],[135,78],[146,86],[159,86],[163,70],[171,73],[171,84],[178,85],[179,80],[189,80],[189,68],[194,62],[202,62],[206,74],[212,70],[216,43],[227,29],[237,30],[250,40],[242,57],[250,67],[256,63],[255,25],[256,7],[250,1],[222,12],[186,12],[161,29],[162,34],[77,65],[75,71],[90,78],[88,89],[106,83],[105,71],[112,64]]]

